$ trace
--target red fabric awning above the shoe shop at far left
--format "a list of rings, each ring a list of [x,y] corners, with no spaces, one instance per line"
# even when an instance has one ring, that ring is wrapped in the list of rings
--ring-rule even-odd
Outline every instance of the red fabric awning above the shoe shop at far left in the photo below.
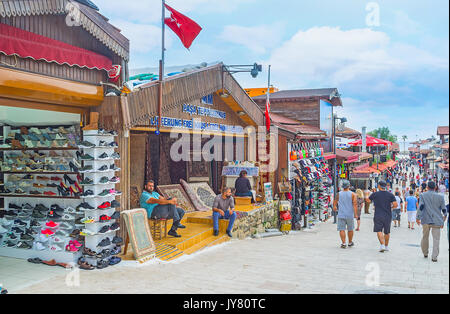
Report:
[[[112,67],[105,56],[2,23],[0,53],[80,68],[109,71]]]

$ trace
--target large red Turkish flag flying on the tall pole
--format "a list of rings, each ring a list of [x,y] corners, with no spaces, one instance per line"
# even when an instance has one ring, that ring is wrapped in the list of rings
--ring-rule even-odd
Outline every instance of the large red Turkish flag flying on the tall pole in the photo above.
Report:
[[[165,6],[171,12],[171,15],[164,19],[164,23],[177,34],[183,45],[189,49],[202,28],[193,20],[172,9],[167,4]]]

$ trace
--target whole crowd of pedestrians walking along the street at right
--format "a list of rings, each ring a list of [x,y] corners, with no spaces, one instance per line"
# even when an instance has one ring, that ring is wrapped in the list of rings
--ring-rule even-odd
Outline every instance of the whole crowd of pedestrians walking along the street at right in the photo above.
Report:
[[[388,169],[385,180],[379,180],[376,188],[355,189],[350,182],[342,182],[342,190],[337,193],[333,210],[337,212],[337,229],[341,238],[341,248],[354,247],[354,231],[361,230],[361,213],[370,214],[370,204],[374,206],[374,229],[380,242],[380,252],[389,252],[391,227],[401,227],[402,213],[408,217],[408,229],[422,226],[421,249],[425,258],[430,253],[430,233],[433,239],[431,259],[438,261],[441,231],[447,221],[449,236],[448,176],[438,178],[423,165],[412,159],[401,160]],[[395,188],[394,188],[395,186]],[[355,228],[356,220],[356,228]],[[348,238],[348,241],[347,241]]]

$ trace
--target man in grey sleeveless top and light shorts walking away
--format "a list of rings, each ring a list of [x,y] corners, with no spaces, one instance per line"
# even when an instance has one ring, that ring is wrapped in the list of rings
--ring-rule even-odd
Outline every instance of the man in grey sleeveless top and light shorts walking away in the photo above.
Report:
[[[348,247],[353,247],[353,235],[355,230],[355,218],[358,217],[357,196],[350,191],[350,182],[342,183],[343,191],[336,195],[333,210],[338,212],[338,231],[342,240],[341,248],[346,249],[345,231],[348,233]]]

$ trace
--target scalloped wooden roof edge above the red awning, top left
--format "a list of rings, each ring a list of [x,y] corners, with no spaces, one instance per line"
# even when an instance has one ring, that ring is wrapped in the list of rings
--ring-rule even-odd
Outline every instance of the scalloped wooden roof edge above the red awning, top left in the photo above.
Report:
[[[0,0],[0,17],[67,14],[69,0]],[[111,51],[129,61],[130,42],[94,8],[77,2],[80,26]]]

